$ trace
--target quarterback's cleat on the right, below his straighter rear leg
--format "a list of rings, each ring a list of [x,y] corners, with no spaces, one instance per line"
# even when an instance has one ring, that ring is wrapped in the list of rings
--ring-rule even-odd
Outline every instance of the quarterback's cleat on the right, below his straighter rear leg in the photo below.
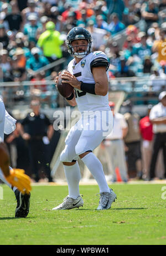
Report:
[[[100,194],[100,201],[97,207],[97,210],[106,210],[111,208],[111,204],[115,202],[116,194],[111,190],[110,193],[108,192],[101,192]]]

